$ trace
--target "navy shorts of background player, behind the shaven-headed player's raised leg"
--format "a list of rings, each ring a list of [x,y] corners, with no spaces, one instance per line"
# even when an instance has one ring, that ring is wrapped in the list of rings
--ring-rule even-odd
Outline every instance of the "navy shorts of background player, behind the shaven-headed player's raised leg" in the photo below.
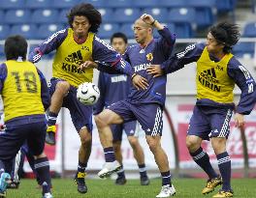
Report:
[[[120,125],[112,125],[112,141],[121,141],[123,131],[127,136],[134,136],[138,130],[139,123],[131,121]]]

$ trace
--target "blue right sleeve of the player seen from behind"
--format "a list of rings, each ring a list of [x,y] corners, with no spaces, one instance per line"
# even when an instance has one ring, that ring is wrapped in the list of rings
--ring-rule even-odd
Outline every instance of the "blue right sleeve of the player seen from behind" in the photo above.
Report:
[[[41,99],[44,105],[45,110],[48,109],[49,104],[50,104],[50,96],[48,92],[48,83],[46,80],[46,77],[44,76],[43,72],[37,69],[38,74],[40,76],[41,80]]]

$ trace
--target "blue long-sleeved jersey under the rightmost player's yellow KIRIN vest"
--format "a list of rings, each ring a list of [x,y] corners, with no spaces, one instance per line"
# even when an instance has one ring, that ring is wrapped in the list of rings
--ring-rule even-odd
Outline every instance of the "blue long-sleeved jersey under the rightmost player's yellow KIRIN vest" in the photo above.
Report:
[[[161,64],[161,69],[165,73],[171,73],[182,69],[184,65],[197,62],[206,47],[205,43],[196,43],[188,45],[184,51],[176,53],[168,61]],[[209,54],[210,60],[218,62],[220,60]],[[240,101],[236,108],[236,112],[248,115],[256,102],[256,84],[249,73],[236,59],[232,57],[227,64],[227,74],[240,87]],[[235,107],[234,103],[219,103],[211,99],[197,99],[197,105],[206,105],[214,107]]]

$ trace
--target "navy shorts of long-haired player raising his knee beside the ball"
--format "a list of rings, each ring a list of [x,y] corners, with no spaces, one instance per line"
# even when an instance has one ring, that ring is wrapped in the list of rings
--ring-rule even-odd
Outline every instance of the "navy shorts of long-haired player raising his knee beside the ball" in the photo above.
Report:
[[[58,78],[50,79],[48,84],[50,96],[55,92],[56,84],[59,81],[64,80]],[[69,109],[72,122],[78,132],[84,126],[87,127],[89,132],[92,131],[92,106],[84,105],[77,99],[77,88],[70,86],[68,95],[63,99],[62,107]]]

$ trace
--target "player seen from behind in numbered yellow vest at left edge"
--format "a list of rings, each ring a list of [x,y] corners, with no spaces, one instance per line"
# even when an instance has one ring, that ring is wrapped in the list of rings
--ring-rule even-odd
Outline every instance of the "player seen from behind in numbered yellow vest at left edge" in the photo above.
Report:
[[[13,159],[27,141],[43,184],[43,198],[51,198],[49,163],[44,153],[48,85],[43,73],[26,61],[26,52],[27,42],[21,36],[6,40],[7,61],[0,65],[0,92],[5,109],[5,129],[0,133],[0,197],[6,196]]]

